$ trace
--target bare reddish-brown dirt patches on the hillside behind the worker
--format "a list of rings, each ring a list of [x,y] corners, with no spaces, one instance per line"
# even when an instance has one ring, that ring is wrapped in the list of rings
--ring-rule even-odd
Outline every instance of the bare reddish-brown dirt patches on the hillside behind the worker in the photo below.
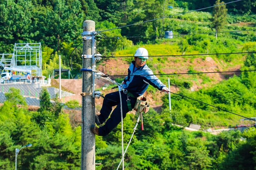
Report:
[[[148,61],[150,62],[150,61]],[[162,63],[161,63],[162,64]],[[99,71],[102,71],[104,74],[109,75],[126,75],[127,69],[128,69],[129,63],[123,61],[122,59],[108,59],[101,63],[100,66],[97,67]],[[187,73],[189,71],[189,67],[193,66],[193,69],[198,72],[212,72],[212,71],[234,71],[239,70],[241,65],[233,65],[231,67],[227,68],[227,65],[225,65],[222,62],[216,62],[211,57],[206,57],[205,59],[201,58],[195,58],[195,59],[185,59],[182,57],[171,57],[168,62],[164,64],[164,67],[162,68],[162,71],[164,73]],[[154,67],[157,67],[157,65],[154,65]],[[222,70],[222,68],[225,68],[226,70]],[[155,74],[157,74],[158,71],[156,71]],[[207,74],[207,76],[212,79],[213,81],[209,84],[201,84],[202,79],[198,79],[197,83],[193,83],[192,90],[198,90],[200,88],[203,88],[207,85],[212,85],[220,82],[223,79],[227,79],[228,77],[232,76],[233,73],[227,73],[227,74]],[[183,75],[183,77],[189,77],[189,75]],[[116,77],[111,77],[116,78]],[[124,78],[124,77],[119,77]],[[97,80],[97,88],[101,89],[103,94],[107,94],[109,92],[116,91],[116,89],[107,89],[102,90],[103,85],[110,84],[110,82],[107,82],[103,79]],[[67,102],[72,99],[76,99],[81,104],[81,89],[82,89],[82,79],[61,79],[61,85],[64,88],[69,89],[70,92],[73,92],[76,94],[75,96],[69,96],[64,98],[64,102]],[[172,86],[170,88],[171,91],[177,92],[179,88]],[[148,100],[151,104],[151,107],[155,108],[155,110],[160,111],[161,104],[159,104],[161,96],[164,95],[164,93],[159,93],[157,96],[152,96],[151,94],[145,92],[145,95],[147,95]],[[154,99],[153,99],[154,98]],[[100,109],[100,106],[102,105],[103,99],[96,99],[96,110]]]

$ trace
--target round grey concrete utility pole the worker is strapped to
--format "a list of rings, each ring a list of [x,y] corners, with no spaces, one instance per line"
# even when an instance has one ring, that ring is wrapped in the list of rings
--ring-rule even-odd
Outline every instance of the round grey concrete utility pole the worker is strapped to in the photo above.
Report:
[[[83,22],[83,69],[93,69],[95,53],[95,22]],[[95,123],[95,98],[93,97],[93,72],[83,71],[82,79],[82,136],[81,136],[81,170],[95,170],[95,134],[90,126]]]

